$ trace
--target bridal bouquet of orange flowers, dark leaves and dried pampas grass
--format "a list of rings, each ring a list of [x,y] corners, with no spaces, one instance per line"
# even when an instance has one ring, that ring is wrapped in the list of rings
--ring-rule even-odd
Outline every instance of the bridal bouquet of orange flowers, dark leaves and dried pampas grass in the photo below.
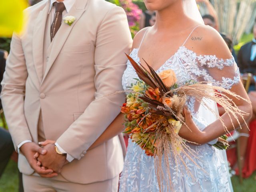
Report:
[[[158,183],[160,184],[164,178],[162,159],[164,159],[166,167],[164,170],[167,170],[168,180],[171,181],[170,172],[168,172],[170,157],[176,164],[181,162],[185,167],[184,155],[192,162],[194,162],[192,157],[196,158],[196,152],[186,144],[188,141],[178,135],[182,124],[185,124],[183,108],[188,97],[195,97],[206,108],[207,104],[203,98],[218,102],[229,115],[235,117],[243,116],[245,113],[226,95],[242,98],[220,86],[209,85],[207,82],[191,80],[178,86],[174,71],[165,70],[157,74],[146,63],[150,70],[148,72],[130,56],[126,56],[140,79],[136,79],[136,83],[131,84],[130,89],[127,90],[126,103],[121,109],[125,117],[125,132],[130,134],[131,140],[138,144],[148,156],[154,156]],[[218,90],[219,93],[212,94],[213,90]],[[208,110],[213,112],[209,107]],[[228,133],[222,118],[220,121]],[[214,146],[218,149],[226,149],[228,147],[226,139],[226,136],[220,137]],[[186,169],[189,172],[187,167]]]

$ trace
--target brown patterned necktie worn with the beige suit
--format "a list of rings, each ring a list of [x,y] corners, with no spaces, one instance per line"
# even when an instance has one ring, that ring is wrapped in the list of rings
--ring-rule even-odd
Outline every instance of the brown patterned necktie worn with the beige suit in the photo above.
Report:
[[[64,3],[62,2],[60,3],[54,2],[54,7],[55,7],[55,14],[54,14],[54,19],[51,26],[51,41],[60,28],[60,25],[62,22],[62,12],[66,9]]]

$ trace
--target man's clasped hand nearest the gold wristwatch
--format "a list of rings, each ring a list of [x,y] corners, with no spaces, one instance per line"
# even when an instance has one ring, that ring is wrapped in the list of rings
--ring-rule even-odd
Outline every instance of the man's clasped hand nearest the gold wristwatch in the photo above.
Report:
[[[38,166],[42,165],[46,168],[54,170],[56,173],[60,173],[62,167],[67,164],[66,156],[57,154],[55,151],[55,145],[53,143],[46,144],[44,149],[47,150],[47,153],[45,155],[40,154],[38,156]],[[35,154],[35,158],[38,154]]]

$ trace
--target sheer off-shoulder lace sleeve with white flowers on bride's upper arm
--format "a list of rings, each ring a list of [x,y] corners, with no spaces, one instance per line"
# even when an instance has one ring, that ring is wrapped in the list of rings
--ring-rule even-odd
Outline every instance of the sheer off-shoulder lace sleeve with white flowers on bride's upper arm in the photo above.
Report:
[[[212,82],[225,89],[231,89],[240,82],[239,68],[233,56],[224,60],[215,55],[200,55],[194,61],[197,66],[192,67],[190,73],[199,81]]]

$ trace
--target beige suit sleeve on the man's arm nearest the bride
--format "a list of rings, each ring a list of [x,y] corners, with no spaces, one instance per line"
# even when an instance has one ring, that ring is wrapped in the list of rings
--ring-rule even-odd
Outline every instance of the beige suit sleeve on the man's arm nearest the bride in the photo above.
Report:
[[[115,6],[98,27],[94,55],[95,100],[56,141],[76,159],[86,153],[120,113],[125,96],[111,93],[122,90],[122,74],[127,61],[124,53],[129,53],[131,46],[126,14]]]

